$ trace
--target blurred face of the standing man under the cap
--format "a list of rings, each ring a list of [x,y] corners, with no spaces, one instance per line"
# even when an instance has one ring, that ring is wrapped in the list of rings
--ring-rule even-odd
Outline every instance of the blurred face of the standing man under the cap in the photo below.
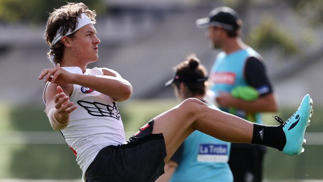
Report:
[[[219,49],[222,47],[223,29],[220,27],[211,26],[207,30],[207,37],[210,40],[210,47]]]

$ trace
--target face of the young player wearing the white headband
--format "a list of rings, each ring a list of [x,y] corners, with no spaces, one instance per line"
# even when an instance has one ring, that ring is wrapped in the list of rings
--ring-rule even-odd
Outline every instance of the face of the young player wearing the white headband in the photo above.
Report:
[[[87,24],[80,28],[72,39],[72,51],[79,60],[91,63],[98,59],[98,47],[100,40],[96,37],[93,24]]]

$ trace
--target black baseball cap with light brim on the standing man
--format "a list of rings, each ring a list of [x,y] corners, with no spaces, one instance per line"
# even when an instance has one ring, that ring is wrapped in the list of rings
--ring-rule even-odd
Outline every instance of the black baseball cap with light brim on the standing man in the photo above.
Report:
[[[221,26],[226,30],[237,30],[239,17],[235,10],[230,7],[217,7],[213,9],[209,17],[196,20],[196,26],[199,28],[208,28],[210,26]]]

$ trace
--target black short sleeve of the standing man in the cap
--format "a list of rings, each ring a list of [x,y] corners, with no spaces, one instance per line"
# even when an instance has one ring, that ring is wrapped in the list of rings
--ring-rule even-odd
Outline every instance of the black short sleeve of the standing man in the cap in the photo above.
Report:
[[[249,57],[244,67],[244,77],[247,84],[255,88],[259,96],[273,92],[263,63],[256,57]]]

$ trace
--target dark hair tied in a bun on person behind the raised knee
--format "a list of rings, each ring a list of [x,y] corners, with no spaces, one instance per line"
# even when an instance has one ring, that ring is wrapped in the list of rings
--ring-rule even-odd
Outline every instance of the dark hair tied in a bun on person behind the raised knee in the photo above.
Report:
[[[179,63],[175,67],[175,74],[180,77],[185,78],[205,78],[207,75],[207,71],[203,65],[201,65],[200,60],[197,59],[194,55],[190,55],[187,60]],[[180,81],[175,81],[173,84],[179,88]],[[203,82],[183,82],[190,95],[186,95],[187,97],[191,97],[194,95],[204,95],[206,90],[206,81]]]

